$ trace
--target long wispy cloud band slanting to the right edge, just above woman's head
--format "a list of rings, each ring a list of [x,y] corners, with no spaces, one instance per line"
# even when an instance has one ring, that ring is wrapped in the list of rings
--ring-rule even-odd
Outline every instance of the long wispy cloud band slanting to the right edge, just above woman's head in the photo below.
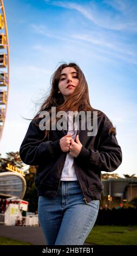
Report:
[[[124,62],[135,65],[137,64],[137,53],[135,51],[135,45],[132,44],[131,46],[131,44],[125,42],[124,38],[122,39],[122,42],[121,37],[116,36],[113,32],[109,31],[106,33],[98,29],[97,31],[87,31],[87,33],[80,32],[79,34],[70,31],[68,35],[68,33],[62,34],[60,31],[56,35],[56,31],[51,32],[48,27],[43,25],[31,24],[31,28],[33,28],[35,33],[42,34],[49,38],[55,38],[60,41],[66,41],[66,44],[64,45],[66,48],[73,47],[75,51],[77,51],[78,45],[78,48],[81,52],[81,48],[84,46],[85,48],[88,48],[88,55],[92,53],[95,56],[96,53],[96,56],[98,56],[100,53],[102,53],[102,55],[105,55],[105,58],[107,55],[106,59],[113,57],[114,59],[121,59]],[[35,45],[34,48],[41,50],[42,52],[47,52],[47,46],[44,47],[42,45]],[[104,58],[104,56],[102,57]]]

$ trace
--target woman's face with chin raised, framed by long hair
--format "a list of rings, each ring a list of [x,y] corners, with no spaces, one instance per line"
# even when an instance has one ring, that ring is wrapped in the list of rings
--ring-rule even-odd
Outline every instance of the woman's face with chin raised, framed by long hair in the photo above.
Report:
[[[79,79],[77,77],[76,69],[69,66],[62,69],[60,79],[58,81],[58,89],[62,93],[64,101],[74,93],[78,84]]]

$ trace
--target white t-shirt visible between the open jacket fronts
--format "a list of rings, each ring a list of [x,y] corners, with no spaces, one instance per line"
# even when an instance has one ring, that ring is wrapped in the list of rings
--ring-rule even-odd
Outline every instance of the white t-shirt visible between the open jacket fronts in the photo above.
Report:
[[[73,130],[73,118],[69,115],[69,112],[67,112],[67,116],[69,120],[67,134],[71,134],[75,141],[76,133],[77,133],[77,123],[75,122],[75,130]],[[77,180],[77,176],[74,168],[74,157],[70,156],[69,153],[67,153],[66,155],[66,161],[64,162],[61,180],[64,180],[64,181]]]

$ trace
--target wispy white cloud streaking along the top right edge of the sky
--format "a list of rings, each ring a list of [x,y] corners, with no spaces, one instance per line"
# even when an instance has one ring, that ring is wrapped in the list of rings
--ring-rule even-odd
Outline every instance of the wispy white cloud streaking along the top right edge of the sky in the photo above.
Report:
[[[109,5],[111,4],[110,1],[105,2]],[[102,2],[102,5],[105,4],[105,2]],[[88,4],[82,3],[81,5],[75,2],[72,3],[64,1],[50,1],[50,4],[66,9],[77,10],[88,20],[92,21],[96,26],[105,29],[111,29],[114,31],[137,31],[136,20],[133,20],[132,15],[129,16],[126,11],[125,14],[127,14],[127,16],[121,16],[121,13],[119,14],[118,12],[110,13],[110,11],[107,11],[105,9],[103,10],[102,8],[100,8],[100,2],[97,3],[91,1]],[[119,0],[114,1],[111,5],[112,7],[116,7],[116,4],[118,4],[117,9],[119,10],[127,10],[127,8],[129,7],[128,4],[126,5],[124,3],[120,3]]]

